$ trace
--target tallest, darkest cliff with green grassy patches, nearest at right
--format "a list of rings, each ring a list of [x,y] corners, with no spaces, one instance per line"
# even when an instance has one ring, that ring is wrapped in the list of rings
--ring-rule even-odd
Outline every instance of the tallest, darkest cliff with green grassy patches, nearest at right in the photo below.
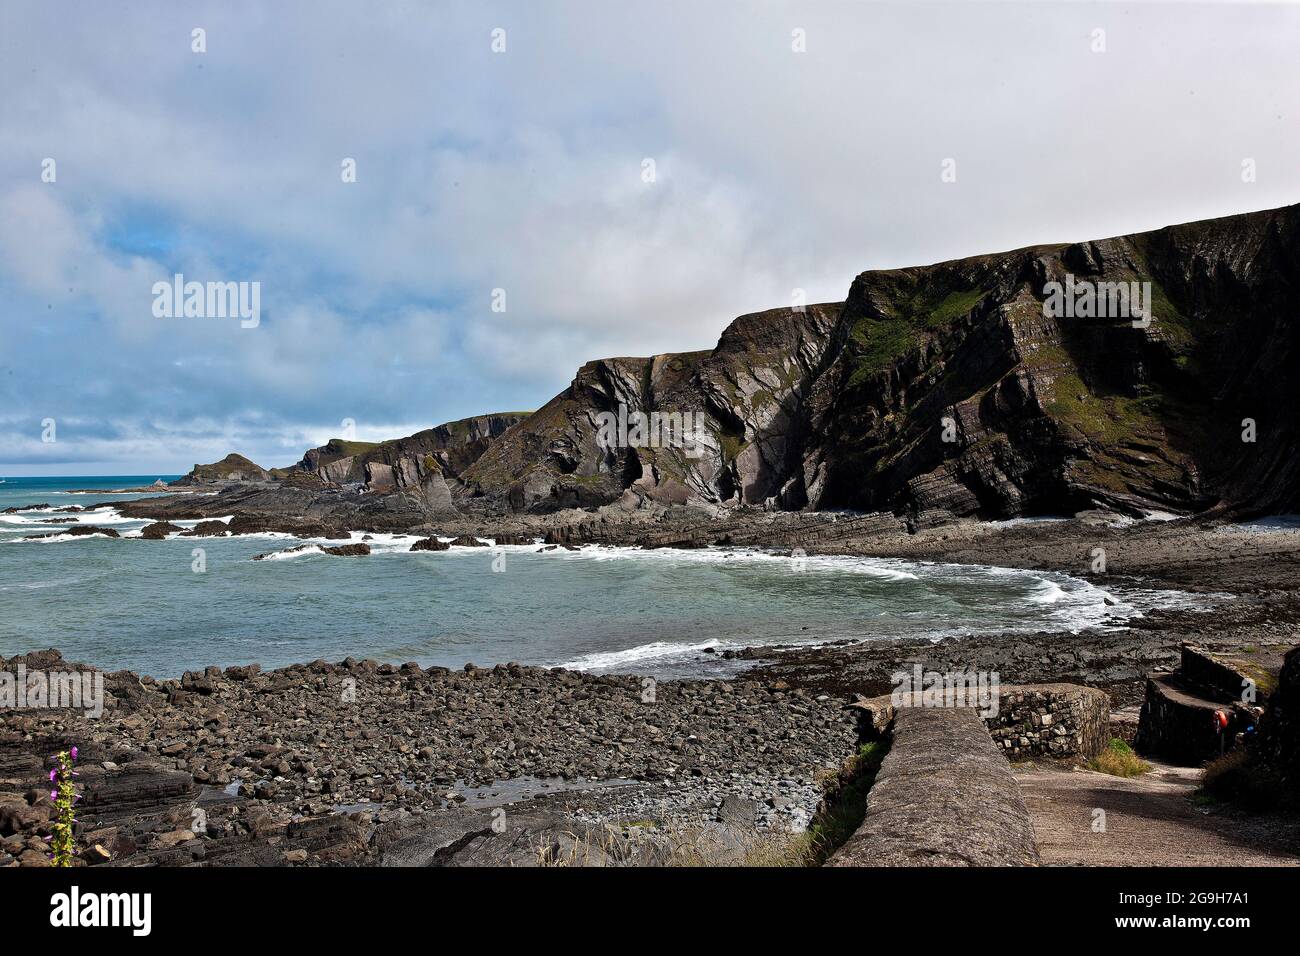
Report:
[[[1045,317],[1067,281],[1149,282],[1149,325]],[[1292,509],[1297,310],[1300,207],[863,273],[810,402],[810,503]]]

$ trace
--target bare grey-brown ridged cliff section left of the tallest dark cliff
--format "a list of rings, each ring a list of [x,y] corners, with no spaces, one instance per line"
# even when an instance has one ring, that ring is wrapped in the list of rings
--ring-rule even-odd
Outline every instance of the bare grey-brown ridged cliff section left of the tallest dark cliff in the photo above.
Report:
[[[589,362],[465,470],[465,493],[515,510],[779,496],[798,471],[805,393],[838,312],[840,303],[758,312],[732,323],[712,351]],[[602,442],[602,424],[621,416],[630,432],[637,415],[653,432],[645,441]]]

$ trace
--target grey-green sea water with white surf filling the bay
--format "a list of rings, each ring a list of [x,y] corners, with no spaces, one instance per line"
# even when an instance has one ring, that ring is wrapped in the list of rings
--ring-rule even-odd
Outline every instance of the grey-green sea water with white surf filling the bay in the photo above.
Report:
[[[147,497],[73,489],[157,477],[4,479],[0,510]],[[74,524],[112,527],[122,537],[22,540]],[[536,545],[410,553],[416,538],[394,535],[373,536],[369,557],[337,558],[290,554],[303,541],[285,535],[146,541],[144,524],[110,506],[0,515],[0,656],[53,646],[68,659],[159,678],[205,665],[348,656],[718,676],[744,666],[720,659],[728,648],[1079,631],[1186,604],[1176,592],[1108,593],[1062,574],[894,559],[801,563],[755,550],[597,546],[538,553]],[[204,553],[202,572],[194,549]],[[264,553],[276,555],[252,559]]]

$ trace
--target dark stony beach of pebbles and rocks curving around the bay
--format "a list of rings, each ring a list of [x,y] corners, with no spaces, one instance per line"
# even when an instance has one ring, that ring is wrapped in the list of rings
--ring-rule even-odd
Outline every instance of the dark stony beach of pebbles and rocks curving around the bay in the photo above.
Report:
[[[855,722],[845,705],[888,692],[894,670],[968,669],[997,671],[1004,685],[1100,687],[1112,696],[1113,732],[1127,736],[1145,675],[1171,667],[1183,641],[1235,649],[1300,643],[1300,536],[1290,529],[1072,519],[948,524],[906,537],[844,533],[875,520],[760,520],[766,527],[745,532],[732,523],[724,533],[738,546],[755,542],[737,537],[762,532],[766,546],[806,546],[810,554],[978,558],[1071,574],[1091,548],[1105,546],[1113,574],[1078,576],[1176,587],[1212,600],[1213,609],[1154,610],[1105,632],[748,648],[734,654],[750,665],[744,672],[654,682],[649,698],[634,674],[514,663],[448,670],[318,661],[269,671],[205,667],[179,680],[118,671],[105,680],[114,705],[98,722],[57,710],[0,713],[0,765],[8,758],[35,769],[46,750],[75,743],[86,753],[86,786],[109,795],[96,800],[110,805],[124,787],[143,792],[143,804],[125,816],[87,808],[87,826],[110,862],[374,864],[394,853],[411,858],[402,856],[415,852],[410,842],[429,834],[452,834],[429,852],[455,860],[459,851],[448,847],[482,827],[489,804],[521,821],[524,843],[511,844],[508,858],[516,864],[536,855],[530,840],[562,832],[599,840],[614,832],[641,847],[646,826],[659,835],[698,834],[740,819],[746,840],[786,839],[807,825],[824,780],[854,752]],[[1093,540],[1080,540],[1080,528]],[[573,546],[572,536],[549,536]],[[32,658],[47,667],[60,662],[26,656]],[[23,788],[21,774],[0,780],[0,791]],[[202,836],[187,823],[194,806],[205,814]],[[39,801],[27,810],[40,816]],[[332,836],[307,839],[320,827]],[[20,861],[31,849],[13,838],[0,847],[20,849],[9,852]]]

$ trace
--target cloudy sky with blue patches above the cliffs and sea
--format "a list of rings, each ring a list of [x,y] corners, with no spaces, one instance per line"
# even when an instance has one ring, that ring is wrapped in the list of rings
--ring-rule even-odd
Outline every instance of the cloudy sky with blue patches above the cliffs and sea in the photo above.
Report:
[[[283,466],[1300,202],[1297,49],[1282,4],[0,0],[0,475]],[[177,273],[256,326],[156,315]]]

